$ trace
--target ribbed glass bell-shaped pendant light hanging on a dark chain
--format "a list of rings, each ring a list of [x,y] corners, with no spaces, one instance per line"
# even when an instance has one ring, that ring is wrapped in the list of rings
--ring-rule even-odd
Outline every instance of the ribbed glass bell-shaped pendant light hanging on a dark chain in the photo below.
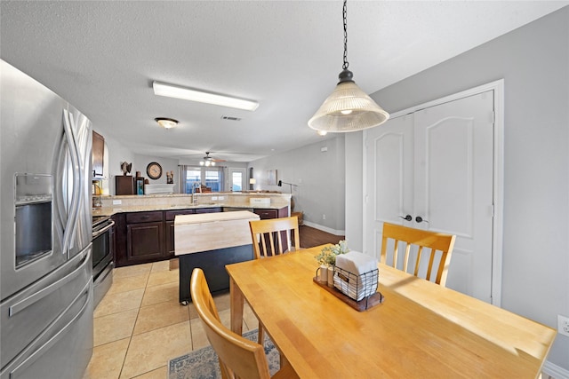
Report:
[[[348,7],[346,2],[347,0],[344,0],[344,63],[338,75],[340,82],[309,120],[310,128],[323,132],[343,133],[364,130],[389,120],[389,113],[357,87],[352,79],[354,75],[348,69]]]

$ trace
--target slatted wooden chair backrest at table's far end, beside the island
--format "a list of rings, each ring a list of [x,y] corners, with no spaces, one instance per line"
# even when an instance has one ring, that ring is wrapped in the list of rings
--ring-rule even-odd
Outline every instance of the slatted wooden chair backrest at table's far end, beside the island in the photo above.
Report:
[[[249,221],[249,227],[256,259],[283,254],[293,248],[301,249],[299,217]]]

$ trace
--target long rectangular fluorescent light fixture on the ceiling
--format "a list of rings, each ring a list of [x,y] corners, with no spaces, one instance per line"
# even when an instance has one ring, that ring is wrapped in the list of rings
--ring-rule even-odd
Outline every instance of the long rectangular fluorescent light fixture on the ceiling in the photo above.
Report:
[[[152,83],[154,94],[158,96],[166,96],[168,98],[184,99],[197,101],[200,103],[213,104],[221,107],[231,107],[254,111],[259,107],[259,103],[253,100],[237,99],[230,96],[218,95],[215,93],[191,90],[189,88],[180,87],[179,85]]]

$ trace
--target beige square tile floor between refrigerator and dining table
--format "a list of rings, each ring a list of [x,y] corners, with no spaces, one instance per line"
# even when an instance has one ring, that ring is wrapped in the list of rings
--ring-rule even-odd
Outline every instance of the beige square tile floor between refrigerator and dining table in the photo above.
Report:
[[[94,312],[92,359],[84,379],[164,379],[169,359],[209,345],[193,304],[178,303],[177,262],[120,267]],[[214,296],[229,326],[228,293]],[[244,309],[244,331],[258,327]]]

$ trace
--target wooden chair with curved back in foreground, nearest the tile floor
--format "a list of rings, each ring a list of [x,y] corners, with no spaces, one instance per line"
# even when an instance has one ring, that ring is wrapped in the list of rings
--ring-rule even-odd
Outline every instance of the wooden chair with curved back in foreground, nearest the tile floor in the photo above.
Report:
[[[223,379],[299,377],[286,359],[281,359],[284,365],[275,375],[270,376],[263,346],[237,335],[221,323],[220,315],[213,302],[212,294],[202,269],[195,268],[192,272],[189,290],[197,314],[204,325],[205,335],[219,357]]]

